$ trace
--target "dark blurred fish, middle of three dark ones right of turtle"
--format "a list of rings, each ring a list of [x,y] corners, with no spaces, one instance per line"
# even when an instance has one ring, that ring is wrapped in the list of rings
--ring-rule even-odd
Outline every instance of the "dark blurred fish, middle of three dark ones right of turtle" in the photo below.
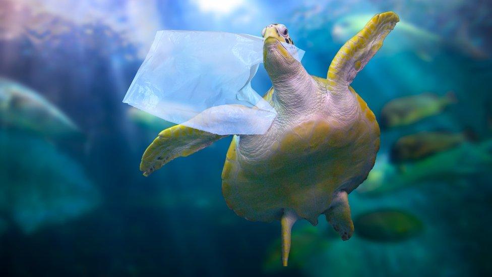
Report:
[[[473,141],[474,137],[473,132],[467,130],[461,133],[419,132],[406,135],[392,145],[390,160],[393,163],[419,160],[465,141]]]

